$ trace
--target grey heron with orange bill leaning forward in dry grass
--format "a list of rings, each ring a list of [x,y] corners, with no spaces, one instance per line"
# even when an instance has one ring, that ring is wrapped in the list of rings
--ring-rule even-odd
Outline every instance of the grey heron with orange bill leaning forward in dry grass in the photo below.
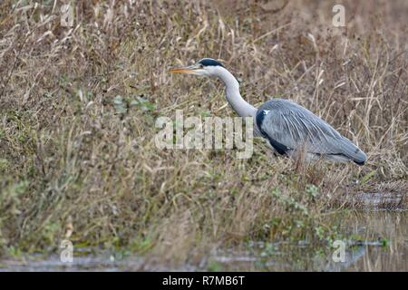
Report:
[[[294,156],[303,149],[307,159],[352,160],[358,165],[364,165],[367,159],[351,140],[296,102],[272,99],[255,108],[241,97],[234,75],[214,59],[204,58],[187,67],[170,69],[170,73],[218,77],[225,84],[232,108],[241,117],[253,117],[257,135],[266,138],[280,155]]]

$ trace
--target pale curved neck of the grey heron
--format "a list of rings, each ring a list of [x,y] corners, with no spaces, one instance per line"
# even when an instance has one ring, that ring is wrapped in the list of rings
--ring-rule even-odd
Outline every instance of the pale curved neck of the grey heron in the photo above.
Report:
[[[224,82],[226,86],[225,92],[227,94],[227,100],[234,111],[237,111],[238,115],[241,117],[255,117],[257,109],[242,99],[241,94],[239,93],[239,83],[232,73],[229,73],[225,68],[219,66],[217,67],[215,75]]]

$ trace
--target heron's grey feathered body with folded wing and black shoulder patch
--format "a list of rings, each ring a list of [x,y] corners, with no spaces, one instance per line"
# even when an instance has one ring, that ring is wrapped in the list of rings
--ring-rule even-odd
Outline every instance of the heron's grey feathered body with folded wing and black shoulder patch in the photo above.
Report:
[[[287,100],[274,99],[257,111],[257,126],[279,152],[296,150],[317,155],[339,155],[364,164],[366,156],[355,144],[311,111]]]

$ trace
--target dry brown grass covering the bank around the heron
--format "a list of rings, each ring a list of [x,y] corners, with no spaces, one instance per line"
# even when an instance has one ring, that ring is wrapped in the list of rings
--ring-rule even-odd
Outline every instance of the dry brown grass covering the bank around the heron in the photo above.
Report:
[[[347,28],[330,1],[130,2],[76,1],[72,28],[60,1],[0,5],[2,255],[53,252],[72,223],[75,247],[195,261],[251,239],[324,240],[347,196],[406,192],[405,1],[345,1]],[[202,57],[223,60],[248,102],[316,112],[366,166],[296,166],[262,141],[250,160],[156,149],[158,116],[235,115],[219,82],[166,73]]]

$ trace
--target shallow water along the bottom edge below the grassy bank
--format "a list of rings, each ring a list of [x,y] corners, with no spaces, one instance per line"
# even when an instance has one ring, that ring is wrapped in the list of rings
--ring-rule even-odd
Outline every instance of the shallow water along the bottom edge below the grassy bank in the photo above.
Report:
[[[344,262],[333,260],[335,248],[306,241],[253,241],[219,250],[199,265],[180,268],[147,266],[135,256],[118,259],[115,253],[95,256],[76,252],[73,263],[63,263],[56,255],[46,259],[28,256],[24,260],[1,261],[0,271],[408,271],[407,211],[357,212],[335,218],[335,223],[342,225],[342,236],[347,237]],[[328,224],[331,222],[328,218]]]

